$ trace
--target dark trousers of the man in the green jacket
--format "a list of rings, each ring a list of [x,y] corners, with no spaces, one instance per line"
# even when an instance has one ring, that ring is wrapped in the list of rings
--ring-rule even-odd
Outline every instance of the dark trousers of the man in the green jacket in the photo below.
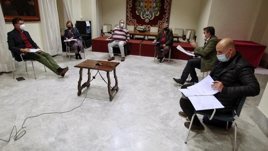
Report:
[[[194,82],[198,82],[198,77],[196,76],[196,70],[201,68],[201,59],[189,59],[184,70],[182,71],[181,80],[186,81],[189,74]]]

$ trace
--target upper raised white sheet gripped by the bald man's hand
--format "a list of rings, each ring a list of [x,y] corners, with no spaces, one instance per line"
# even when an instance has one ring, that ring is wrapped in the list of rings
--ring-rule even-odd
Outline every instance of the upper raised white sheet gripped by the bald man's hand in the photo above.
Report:
[[[218,90],[213,90],[211,84],[213,84],[214,80],[208,75],[202,81],[198,82],[195,85],[187,87],[191,93],[194,95],[213,95],[219,92]]]

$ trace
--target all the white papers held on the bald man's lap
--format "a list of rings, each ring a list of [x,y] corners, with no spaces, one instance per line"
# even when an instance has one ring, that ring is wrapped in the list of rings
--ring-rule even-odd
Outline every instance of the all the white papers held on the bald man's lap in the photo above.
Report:
[[[220,101],[213,96],[219,92],[211,87],[213,82],[213,79],[208,75],[199,83],[185,89],[179,89],[179,91],[188,97],[196,111],[224,108]]]

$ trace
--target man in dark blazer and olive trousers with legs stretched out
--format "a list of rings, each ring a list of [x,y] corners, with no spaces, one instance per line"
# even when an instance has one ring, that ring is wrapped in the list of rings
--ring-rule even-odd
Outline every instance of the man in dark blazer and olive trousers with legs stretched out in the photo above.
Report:
[[[9,50],[13,52],[17,61],[23,59],[33,59],[44,64],[48,69],[55,74],[64,77],[65,73],[69,70],[68,67],[61,68],[50,54],[44,51],[30,52],[30,49],[40,49],[38,45],[32,40],[30,34],[25,31],[25,25],[22,18],[13,18],[12,24],[15,27],[12,31],[7,33],[7,42]]]

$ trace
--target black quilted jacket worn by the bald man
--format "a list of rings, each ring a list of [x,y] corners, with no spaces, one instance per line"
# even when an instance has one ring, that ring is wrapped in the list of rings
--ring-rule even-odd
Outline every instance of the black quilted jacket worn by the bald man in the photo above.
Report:
[[[220,112],[229,112],[235,110],[238,106],[238,100],[242,96],[259,95],[260,87],[254,75],[253,66],[245,60],[239,52],[234,56],[231,63],[220,72],[218,81],[222,82],[224,88],[222,92],[216,93],[214,96],[222,103],[224,109]],[[214,70],[220,65],[220,61],[215,63],[210,76],[213,76]]]

